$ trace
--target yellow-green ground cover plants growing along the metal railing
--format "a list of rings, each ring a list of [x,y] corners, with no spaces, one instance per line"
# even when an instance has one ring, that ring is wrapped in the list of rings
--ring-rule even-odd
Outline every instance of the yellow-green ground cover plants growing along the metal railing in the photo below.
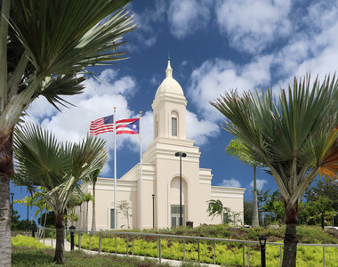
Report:
[[[195,229],[177,228],[173,230],[154,231],[163,234],[173,234],[181,236],[203,236],[222,239],[242,239],[257,241],[262,235],[268,237],[268,241],[282,243],[285,227],[280,229],[266,229],[258,227],[255,229],[231,228],[226,225],[202,225]],[[156,237],[138,237],[134,236],[133,231],[129,231],[128,240],[125,234],[117,234],[117,254],[126,254],[128,242],[128,255],[143,255],[157,257],[157,238]],[[298,238],[301,243],[318,244],[338,244],[338,239],[322,231],[318,227],[302,226],[298,228]],[[99,234],[89,235],[81,234],[81,247],[84,249],[99,250]],[[78,234],[76,234],[76,246],[78,246]],[[115,233],[101,233],[102,252],[115,253]],[[196,239],[186,239],[185,245],[182,239],[161,238],[161,256],[162,258],[183,260],[183,247],[185,246],[185,260],[187,262],[198,262],[198,243]],[[200,241],[200,262],[214,263],[214,246],[216,250],[216,263],[230,266],[241,266],[243,264],[243,245],[236,242],[213,242]],[[282,249],[284,246],[282,246]],[[326,266],[334,266],[335,257],[338,252],[336,247],[326,247]],[[267,266],[277,266],[280,264],[280,247],[268,245],[266,250]],[[249,257],[251,266],[260,266],[261,254],[258,245],[249,246]],[[247,247],[245,245],[245,262],[247,261]],[[298,247],[297,266],[318,266],[323,261],[322,247]]]

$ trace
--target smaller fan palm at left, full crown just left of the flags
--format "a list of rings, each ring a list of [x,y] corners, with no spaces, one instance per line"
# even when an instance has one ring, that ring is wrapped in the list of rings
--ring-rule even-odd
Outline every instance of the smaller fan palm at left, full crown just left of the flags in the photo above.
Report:
[[[64,210],[74,206],[81,195],[79,182],[107,161],[104,145],[103,140],[93,136],[79,143],[60,143],[47,130],[31,124],[15,132],[15,176],[29,181],[29,190],[43,198],[55,214],[54,261],[58,263],[65,261]]]

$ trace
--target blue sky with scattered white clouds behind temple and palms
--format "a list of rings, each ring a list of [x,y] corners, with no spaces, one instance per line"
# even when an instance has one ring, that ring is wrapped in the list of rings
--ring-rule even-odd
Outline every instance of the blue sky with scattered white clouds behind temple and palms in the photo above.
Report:
[[[338,1],[135,0],[129,8],[138,25],[124,37],[129,59],[108,69],[90,69],[104,84],[88,79],[83,94],[67,98],[76,107],[60,113],[39,98],[29,107],[27,120],[60,140],[76,142],[89,131],[91,120],[113,114],[114,107],[117,119],[136,117],[141,110],[145,150],[153,139],[151,103],[165,78],[170,51],[173,77],[188,100],[187,135],[202,153],[200,166],[213,169],[213,185],[244,187],[245,198],[252,198],[252,168],[225,153],[233,137],[221,129],[224,118],[208,101],[230,89],[269,86],[278,93],[308,71],[321,79],[334,74]],[[100,136],[109,149],[102,176],[113,178],[113,135]],[[118,178],[139,162],[138,150],[138,136],[117,136]],[[257,175],[259,189],[277,189],[272,176],[262,170]],[[12,190],[14,199],[25,194]],[[14,208],[26,214],[25,206]]]

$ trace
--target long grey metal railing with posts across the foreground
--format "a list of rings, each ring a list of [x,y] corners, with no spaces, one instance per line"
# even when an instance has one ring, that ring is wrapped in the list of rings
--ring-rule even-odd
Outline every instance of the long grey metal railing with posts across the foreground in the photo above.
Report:
[[[45,232],[50,231],[51,233],[48,232],[48,236],[51,235],[52,237],[52,243],[53,243],[53,236],[56,237],[56,232],[55,235],[53,232],[55,229],[52,228],[39,228],[38,229],[38,239],[43,238],[45,242]],[[237,240],[237,239],[216,239],[216,238],[205,238],[205,237],[194,237],[194,236],[177,236],[177,235],[170,235],[170,234],[153,234],[153,233],[144,233],[144,232],[124,232],[124,231],[84,231],[84,230],[76,230],[77,233],[77,244],[78,244],[78,249],[81,249],[81,238],[84,233],[88,233],[89,235],[89,250],[91,250],[91,237],[94,234],[99,234],[99,248],[98,248],[98,253],[101,254],[102,252],[102,233],[104,234],[109,234],[113,235],[115,238],[115,254],[117,255],[117,236],[125,236],[126,240],[126,253],[125,255],[134,255],[134,238],[135,236],[138,237],[153,237],[157,238],[157,259],[158,262],[161,263],[162,260],[162,255],[161,255],[161,239],[181,239],[183,243],[183,262],[186,261],[186,240],[195,240],[197,242],[197,255],[198,255],[198,263],[200,262],[200,241],[209,241],[213,243],[213,263],[216,263],[216,242],[223,242],[223,243],[239,243],[242,245],[243,248],[243,266],[250,266],[250,245],[259,245],[259,241],[248,241],[248,240]],[[69,231],[65,231],[65,239],[67,239],[67,234],[69,234]],[[130,237],[132,238],[132,252],[129,252],[129,239]],[[266,245],[271,245],[271,246],[279,246],[279,259],[280,259],[280,266],[282,266],[283,262],[283,250],[282,247],[284,246],[284,243],[273,243],[273,242],[266,242]],[[336,247],[338,248],[338,244],[302,244],[299,243],[297,244],[298,247],[323,247],[323,266],[326,266],[325,263],[325,248],[326,247]],[[246,255],[245,255],[245,247],[246,247]],[[169,258],[168,258],[169,259]]]

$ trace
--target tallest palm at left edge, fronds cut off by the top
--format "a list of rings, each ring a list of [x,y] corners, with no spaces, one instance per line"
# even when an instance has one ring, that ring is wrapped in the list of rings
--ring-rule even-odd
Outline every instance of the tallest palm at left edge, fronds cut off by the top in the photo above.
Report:
[[[122,36],[133,30],[130,0],[1,0],[0,8],[0,265],[11,266],[12,136],[38,96],[53,106],[82,93],[85,69],[124,59]],[[121,9],[122,8],[122,9]],[[104,23],[101,23],[103,19]],[[10,23],[9,23],[10,22]]]

